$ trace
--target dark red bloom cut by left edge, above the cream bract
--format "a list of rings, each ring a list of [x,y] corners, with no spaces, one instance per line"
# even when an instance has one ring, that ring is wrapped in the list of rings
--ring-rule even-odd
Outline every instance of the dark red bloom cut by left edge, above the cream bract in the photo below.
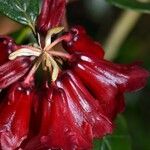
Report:
[[[8,56],[16,49],[13,39],[7,36],[0,36],[0,65],[8,61]]]

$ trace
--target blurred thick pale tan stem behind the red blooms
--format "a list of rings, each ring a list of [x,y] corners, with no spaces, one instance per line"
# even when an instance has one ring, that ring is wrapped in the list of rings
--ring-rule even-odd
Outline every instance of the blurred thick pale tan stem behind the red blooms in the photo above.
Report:
[[[141,15],[131,10],[122,13],[105,42],[104,47],[107,50],[105,58],[107,60],[113,60],[117,56],[120,46],[134,28]]]

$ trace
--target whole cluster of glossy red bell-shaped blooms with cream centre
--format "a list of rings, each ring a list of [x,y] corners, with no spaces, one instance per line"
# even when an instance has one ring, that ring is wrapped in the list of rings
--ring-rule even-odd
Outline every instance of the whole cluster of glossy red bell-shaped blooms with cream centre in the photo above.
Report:
[[[0,36],[2,150],[92,149],[93,139],[112,134],[125,109],[124,93],[146,84],[148,71],[105,60],[101,45],[83,27],[53,37],[63,30],[65,4],[43,1],[36,46]]]

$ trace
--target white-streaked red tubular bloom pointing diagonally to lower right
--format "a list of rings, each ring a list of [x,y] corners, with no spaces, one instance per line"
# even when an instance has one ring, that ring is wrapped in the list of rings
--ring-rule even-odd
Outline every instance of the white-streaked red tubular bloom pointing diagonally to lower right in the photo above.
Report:
[[[112,124],[104,115],[98,101],[90,95],[77,77],[71,72],[64,73],[57,84],[66,93],[69,111],[76,124],[90,124],[94,137],[103,137],[112,132]]]

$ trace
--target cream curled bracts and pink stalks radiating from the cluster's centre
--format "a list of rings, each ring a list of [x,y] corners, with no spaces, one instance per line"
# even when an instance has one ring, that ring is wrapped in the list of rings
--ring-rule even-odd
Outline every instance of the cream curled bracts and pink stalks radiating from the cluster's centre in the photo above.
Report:
[[[43,70],[49,71],[51,73],[51,80],[55,81],[59,74],[59,66],[57,61],[63,62],[62,59],[71,59],[71,55],[62,51],[55,51],[54,47],[66,40],[70,37],[68,35],[63,35],[56,39],[54,42],[51,42],[51,38],[54,34],[58,34],[63,30],[63,27],[56,27],[48,31],[47,36],[45,38],[45,47],[42,49],[39,43],[38,47],[33,46],[25,46],[16,50],[15,52],[9,55],[10,60],[14,60],[20,56],[35,56],[36,60],[28,73],[27,77],[24,80],[26,85],[29,85],[34,80],[34,74],[39,68],[40,64],[42,64]],[[38,41],[40,39],[38,38]],[[56,59],[57,58],[57,59]]]

